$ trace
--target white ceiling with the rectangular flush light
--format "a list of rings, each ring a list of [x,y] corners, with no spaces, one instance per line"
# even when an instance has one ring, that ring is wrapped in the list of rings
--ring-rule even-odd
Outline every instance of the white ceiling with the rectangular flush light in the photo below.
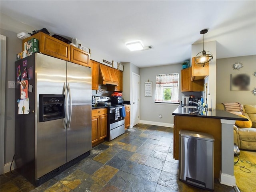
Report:
[[[142,68],[182,63],[191,45],[216,41],[216,58],[256,54],[256,1],[4,1],[1,16],[33,29],[76,37],[117,62]],[[2,24],[19,33],[23,28]],[[28,31],[31,32],[31,31]],[[126,42],[152,49],[130,52]],[[206,49],[207,50],[207,49]]]

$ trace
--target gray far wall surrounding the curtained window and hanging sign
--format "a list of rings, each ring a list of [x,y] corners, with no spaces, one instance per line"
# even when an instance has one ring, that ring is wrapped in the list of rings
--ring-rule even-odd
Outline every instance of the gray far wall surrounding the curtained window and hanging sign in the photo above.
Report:
[[[156,104],[155,90],[156,90],[156,75],[179,73],[181,79],[182,64],[156,66],[140,68],[140,121],[158,122],[162,124],[173,124],[172,112],[178,107],[178,104]],[[152,96],[144,96],[144,83],[152,82]],[[181,86],[181,82],[180,85]],[[180,89],[180,88],[179,88]],[[180,89],[181,90],[181,89]],[[201,96],[201,92],[180,92],[179,100],[182,101],[182,96],[189,95]],[[159,114],[162,118],[159,118]]]

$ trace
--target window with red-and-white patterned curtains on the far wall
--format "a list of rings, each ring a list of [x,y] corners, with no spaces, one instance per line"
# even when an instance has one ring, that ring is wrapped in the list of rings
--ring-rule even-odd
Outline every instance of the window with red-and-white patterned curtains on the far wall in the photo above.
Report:
[[[179,74],[156,75],[156,99],[160,103],[179,102]]]

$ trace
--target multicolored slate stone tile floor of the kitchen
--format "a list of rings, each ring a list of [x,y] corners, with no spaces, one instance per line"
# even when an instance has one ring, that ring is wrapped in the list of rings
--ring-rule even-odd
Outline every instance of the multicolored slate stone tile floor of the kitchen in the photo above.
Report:
[[[104,142],[44,184],[34,187],[15,170],[1,175],[1,192],[201,192],[178,180],[173,129],[138,124]],[[214,180],[214,191],[235,192]]]

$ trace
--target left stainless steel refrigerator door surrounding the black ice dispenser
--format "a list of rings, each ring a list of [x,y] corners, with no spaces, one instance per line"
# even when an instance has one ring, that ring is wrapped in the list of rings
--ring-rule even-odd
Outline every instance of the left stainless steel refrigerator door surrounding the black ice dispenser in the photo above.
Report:
[[[39,122],[39,94],[64,94],[66,61],[36,54],[36,178],[66,163],[64,119]],[[66,97],[65,97],[66,98]]]

